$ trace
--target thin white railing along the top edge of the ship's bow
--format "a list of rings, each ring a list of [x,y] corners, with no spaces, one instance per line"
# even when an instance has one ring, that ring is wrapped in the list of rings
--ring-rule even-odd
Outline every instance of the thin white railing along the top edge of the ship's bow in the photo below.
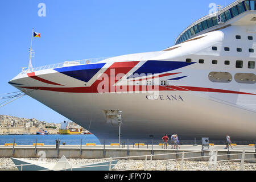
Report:
[[[97,63],[102,60],[109,59],[110,57],[98,57],[98,58],[91,58],[91,59],[82,59],[82,60],[75,60],[75,61],[64,61],[62,63],[56,63],[56,64],[49,64],[49,65],[43,65],[41,67],[31,68],[31,69],[24,69],[22,72],[19,73],[19,75],[23,75],[26,73],[41,71],[45,69],[54,69],[54,68],[60,68],[60,67],[66,67],[66,66],[75,66],[75,65],[81,65],[81,64],[92,64]]]

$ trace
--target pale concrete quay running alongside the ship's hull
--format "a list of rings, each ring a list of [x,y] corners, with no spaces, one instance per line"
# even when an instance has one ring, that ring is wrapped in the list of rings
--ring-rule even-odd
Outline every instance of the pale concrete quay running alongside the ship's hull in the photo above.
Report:
[[[256,152],[254,146],[233,146],[233,149],[224,149],[224,145],[210,146],[209,151],[201,151],[201,146],[182,145],[178,150],[163,149],[162,146],[110,146],[96,145],[85,146],[82,145],[65,145],[60,146],[59,150],[55,145],[35,146],[32,145],[17,145],[17,146],[0,146],[0,158],[61,158],[65,155],[66,158],[72,159],[104,159],[104,158],[123,158],[144,160],[145,155],[150,158],[151,152],[154,152],[152,160],[166,160],[166,159],[181,159],[182,152],[185,152],[184,158],[192,161],[208,161],[210,157],[210,150],[218,151],[217,160],[236,160],[242,158],[242,152],[245,151],[245,162],[256,163]],[[129,154],[128,154],[129,153]],[[105,155],[104,155],[105,154]],[[128,154],[128,155],[127,155]],[[229,155],[228,155],[229,154]],[[135,157],[140,156],[140,157]],[[248,159],[248,160],[247,160]],[[186,159],[185,159],[186,160]]]

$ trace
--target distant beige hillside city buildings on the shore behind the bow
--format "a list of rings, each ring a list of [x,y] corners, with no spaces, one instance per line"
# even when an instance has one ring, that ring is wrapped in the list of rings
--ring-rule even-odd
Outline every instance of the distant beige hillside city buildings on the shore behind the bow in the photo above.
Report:
[[[36,134],[39,130],[47,130],[49,134],[58,134],[61,123],[48,123],[46,121],[39,121],[38,119],[19,118],[11,115],[0,115],[0,135],[9,134]],[[69,122],[69,127],[80,128],[74,122]]]

